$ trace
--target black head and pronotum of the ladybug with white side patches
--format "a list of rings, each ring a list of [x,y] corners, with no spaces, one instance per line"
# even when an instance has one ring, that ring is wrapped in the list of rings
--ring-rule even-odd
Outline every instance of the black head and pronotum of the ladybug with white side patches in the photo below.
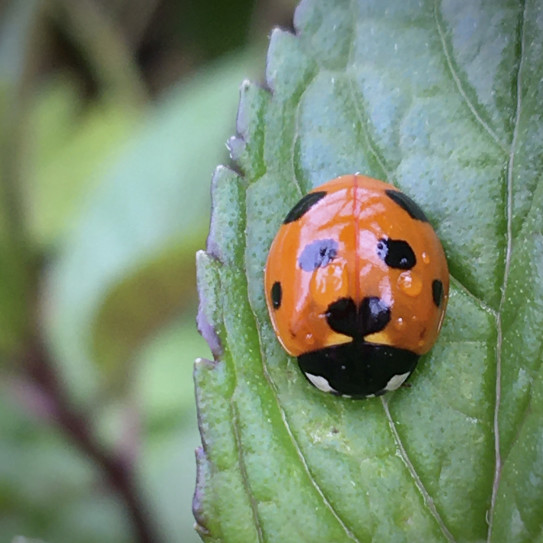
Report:
[[[390,345],[354,340],[304,353],[298,364],[307,380],[332,394],[365,398],[400,386],[419,355]]]

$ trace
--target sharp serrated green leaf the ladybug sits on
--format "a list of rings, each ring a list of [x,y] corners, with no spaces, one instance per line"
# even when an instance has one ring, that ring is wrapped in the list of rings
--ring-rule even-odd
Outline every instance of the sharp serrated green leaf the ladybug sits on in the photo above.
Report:
[[[206,541],[543,537],[543,5],[307,0],[245,84],[239,172],[213,181],[195,367]],[[311,188],[363,172],[425,210],[452,280],[412,387],[311,388],[274,337],[271,241]]]

